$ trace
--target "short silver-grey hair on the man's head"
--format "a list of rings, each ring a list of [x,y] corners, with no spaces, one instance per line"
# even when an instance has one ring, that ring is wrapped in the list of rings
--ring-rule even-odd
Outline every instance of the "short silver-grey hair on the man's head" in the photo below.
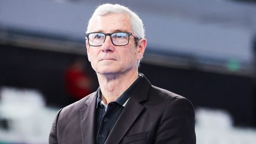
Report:
[[[88,31],[91,28],[92,20],[97,16],[103,16],[106,14],[120,14],[124,13],[129,15],[133,34],[140,38],[145,38],[145,29],[143,27],[142,20],[139,18],[139,16],[131,11],[129,8],[124,7],[119,4],[103,4],[100,5],[97,9],[95,9],[94,13],[92,14],[92,17],[89,20],[88,26],[87,26],[87,33],[91,32]]]

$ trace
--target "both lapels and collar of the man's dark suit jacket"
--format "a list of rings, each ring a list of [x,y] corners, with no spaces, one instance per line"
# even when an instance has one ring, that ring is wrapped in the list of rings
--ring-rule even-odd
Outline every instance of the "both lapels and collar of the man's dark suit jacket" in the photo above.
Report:
[[[121,141],[126,132],[132,126],[133,122],[144,109],[143,105],[140,103],[142,103],[142,101],[148,100],[148,93],[150,88],[150,82],[142,74],[142,79],[139,81],[136,88],[132,92],[130,100],[127,102],[126,107],[124,107],[119,119],[116,121],[116,124],[114,124],[113,129],[105,141],[105,144],[119,143]],[[95,110],[98,90],[87,96],[88,100],[85,101],[85,107],[80,110],[82,142],[84,144],[94,144]]]

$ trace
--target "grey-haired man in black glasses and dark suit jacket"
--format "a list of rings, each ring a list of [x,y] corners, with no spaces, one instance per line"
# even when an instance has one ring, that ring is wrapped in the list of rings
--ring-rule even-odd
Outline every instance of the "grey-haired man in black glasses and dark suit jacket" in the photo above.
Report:
[[[88,60],[100,87],[57,114],[49,143],[196,143],[193,105],[138,72],[143,24],[121,5],[98,7],[88,23]]]

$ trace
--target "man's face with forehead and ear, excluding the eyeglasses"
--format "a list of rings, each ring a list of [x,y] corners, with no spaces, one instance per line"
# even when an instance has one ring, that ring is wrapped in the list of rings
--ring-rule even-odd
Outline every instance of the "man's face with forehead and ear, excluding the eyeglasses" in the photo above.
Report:
[[[95,17],[92,20],[92,27],[89,32],[133,33],[130,17],[126,14],[107,14]],[[89,46],[87,44],[87,54],[91,66],[97,74],[111,75],[137,71],[137,62],[142,59],[146,48],[146,39],[139,40],[137,46],[135,39],[130,36],[130,41],[126,46],[114,46],[107,36],[102,46]]]

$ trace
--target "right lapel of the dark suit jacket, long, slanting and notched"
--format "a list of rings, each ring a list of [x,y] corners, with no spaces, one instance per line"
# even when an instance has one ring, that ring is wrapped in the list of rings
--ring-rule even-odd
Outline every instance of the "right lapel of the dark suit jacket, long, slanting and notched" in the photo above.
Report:
[[[119,143],[134,121],[143,111],[144,107],[140,102],[148,100],[148,92],[151,87],[148,79],[143,76],[142,81],[137,85],[130,100],[124,107],[119,119],[108,135],[105,144]],[[143,89],[143,90],[142,90]]]

